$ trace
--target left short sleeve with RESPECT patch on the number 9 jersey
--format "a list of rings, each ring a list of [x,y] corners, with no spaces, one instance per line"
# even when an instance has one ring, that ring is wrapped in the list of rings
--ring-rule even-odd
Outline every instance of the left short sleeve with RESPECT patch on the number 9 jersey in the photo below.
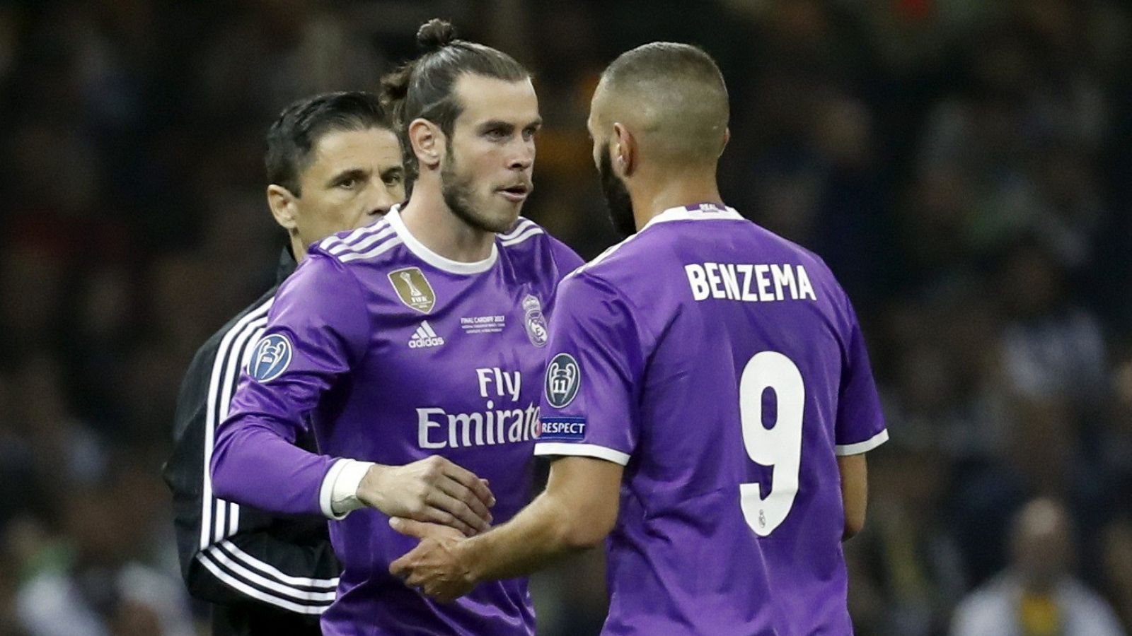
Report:
[[[584,273],[563,281],[555,306],[534,454],[625,465],[637,444],[633,405],[642,373],[632,308]]]

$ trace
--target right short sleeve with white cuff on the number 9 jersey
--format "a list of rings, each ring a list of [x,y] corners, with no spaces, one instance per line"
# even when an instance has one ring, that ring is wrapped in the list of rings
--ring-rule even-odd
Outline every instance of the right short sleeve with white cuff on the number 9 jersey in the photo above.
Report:
[[[865,347],[865,336],[851,307],[848,332],[834,428],[834,450],[841,456],[867,453],[889,439],[884,414],[881,412],[881,398]]]

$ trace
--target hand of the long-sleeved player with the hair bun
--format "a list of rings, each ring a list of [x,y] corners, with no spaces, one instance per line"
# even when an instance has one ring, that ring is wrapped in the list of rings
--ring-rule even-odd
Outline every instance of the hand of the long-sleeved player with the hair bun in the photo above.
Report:
[[[444,524],[469,536],[491,527],[488,507],[495,506],[486,480],[437,455],[404,466],[370,466],[358,499],[391,517]]]

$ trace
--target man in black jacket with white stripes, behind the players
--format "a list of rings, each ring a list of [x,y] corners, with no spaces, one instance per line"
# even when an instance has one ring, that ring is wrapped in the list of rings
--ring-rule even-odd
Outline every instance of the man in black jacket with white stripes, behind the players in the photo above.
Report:
[[[213,634],[318,634],[318,616],[334,600],[340,570],[326,519],[277,518],[217,499],[208,462],[278,284],[311,243],[367,225],[405,198],[393,130],[376,96],[329,93],[291,104],[267,134],[267,203],[290,246],[280,257],[275,286],[194,358],[177,402],[173,456],[164,469],[181,573],[194,596],[214,604]],[[299,441],[314,449],[312,440]],[[404,485],[409,479],[419,476],[389,483]]]

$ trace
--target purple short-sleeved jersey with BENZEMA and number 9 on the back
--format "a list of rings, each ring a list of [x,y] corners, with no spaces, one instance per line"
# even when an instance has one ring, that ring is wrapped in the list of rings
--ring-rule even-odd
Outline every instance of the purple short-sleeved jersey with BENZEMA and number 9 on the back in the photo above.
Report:
[[[849,634],[837,456],[887,433],[844,292],[711,205],[563,281],[537,455],[625,465],[604,634]]]

